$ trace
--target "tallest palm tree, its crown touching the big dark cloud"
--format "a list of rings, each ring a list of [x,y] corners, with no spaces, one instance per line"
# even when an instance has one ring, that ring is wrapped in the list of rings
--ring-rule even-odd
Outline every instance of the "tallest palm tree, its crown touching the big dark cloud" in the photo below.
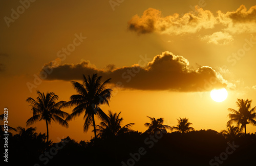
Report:
[[[106,88],[106,86],[110,83],[110,79],[107,79],[101,84],[101,77],[97,74],[93,74],[92,77],[88,75],[88,78],[83,75],[83,82],[80,84],[79,82],[72,81],[72,84],[77,91],[78,94],[72,95],[70,97],[70,101],[65,104],[65,107],[76,106],[72,110],[72,114],[66,119],[66,121],[70,121],[76,117],[79,117],[83,112],[83,131],[87,132],[89,127],[93,124],[94,135],[96,134],[96,126],[94,115],[97,115],[100,119],[106,119],[106,114],[99,107],[101,104],[108,104],[111,98],[111,89]]]

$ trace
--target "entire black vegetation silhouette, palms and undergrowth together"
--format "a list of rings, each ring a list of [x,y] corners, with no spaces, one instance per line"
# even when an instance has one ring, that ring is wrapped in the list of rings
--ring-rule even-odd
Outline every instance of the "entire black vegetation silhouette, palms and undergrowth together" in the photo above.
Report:
[[[110,79],[101,84],[101,76],[83,75],[82,84],[72,81],[78,94],[70,101],[59,101],[53,92],[41,93],[34,100],[29,97],[33,116],[27,125],[44,120],[47,133],[37,133],[35,127],[18,126],[13,133],[8,132],[9,165],[256,165],[256,133],[246,133],[246,124],[255,124],[255,107],[251,100],[238,99],[239,110],[228,108],[227,129],[195,130],[187,118],[179,118],[177,126],[164,124],[163,118],[149,117],[145,122],[145,132],[134,131],[134,123],[123,125],[121,112],[109,110],[106,115],[101,104],[109,104],[111,89],[107,88]],[[72,114],[61,111],[72,107]],[[48,127],[56,121],[68,127],[68,121],[84,113],[83,130],[93,127],[95,137],[79,143],[69,136],[49,140]],[[94,121],[97,115],[101,122]],[[64,120],[66,118],[66,120]],[[173,118],[173,117],[169,117]],[[4,128],[1,123],[1,145],[4,145]],[[236,124],[236,126],[232,125]],[[242,133],[243,129],[245,133]],[[15,133],[16,131],[16,133]],[[171,132],[168,132],[171,131]],[[15,133],[15,134],[14,134]],[[232,151],[227,151],[227,149]],[[2,153],[3,154],[3,153]],[[210,162],[212,161],[212,162]]]

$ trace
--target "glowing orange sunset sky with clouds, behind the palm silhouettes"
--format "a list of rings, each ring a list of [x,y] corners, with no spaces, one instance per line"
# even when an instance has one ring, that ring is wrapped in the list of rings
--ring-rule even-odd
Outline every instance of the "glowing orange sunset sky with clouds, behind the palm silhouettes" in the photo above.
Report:
[[[238,98],[256,106],[254,1],[24,0],[0,6],[0,104],[12,127],[26,127],[32,113],[25,100],[36,98],[37,90],[69,101],[76,94],[70,81],[96,72],[112,78],[114,90],[102,110],[121,112],[124,125],[133,122],[136,131],[146,130],[150,116],[170,126],[186,117],[196,130],[220,132]],[[214,88],[226,88],[227,99],[212,100]],[[90,140],[92,127],[84,133],[83,122],[81,116],[69,128],[53,123],[49,137]],[[45,122],[32,126],[46,132]],[[247,132],[256,126],[247,125]]]

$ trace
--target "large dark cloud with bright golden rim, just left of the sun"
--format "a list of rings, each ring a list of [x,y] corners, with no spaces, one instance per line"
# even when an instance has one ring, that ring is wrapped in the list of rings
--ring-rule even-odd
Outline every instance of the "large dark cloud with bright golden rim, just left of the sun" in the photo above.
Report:
[[[103,79],[112,78],[113,84],[126,89],[170,90],[180,92],[210,91],[213,88],[227,87],[229,83],[220,73],[208,66],[197,70],[190,69],[189,62],[182,56],[165,51],[154,57],[145,67],[134,64],[130,67],[97,69],[89,61],[77,64],[51,66],[48,80],[81,80],[82,74],[98,73]],[[44,72],[42,69],[40,72]]]

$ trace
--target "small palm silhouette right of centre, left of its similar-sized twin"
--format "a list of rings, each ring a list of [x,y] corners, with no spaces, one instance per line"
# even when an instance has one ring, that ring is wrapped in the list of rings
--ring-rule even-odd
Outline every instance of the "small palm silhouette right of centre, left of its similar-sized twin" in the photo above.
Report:
[[[155,119],[155,118],[150,118],[150,123],[145,123],[144,125],[146,127],[148,127],[148,129],[145,131],[147,133],[153,134],[155,132],[167,132],[166,129],[172,129],[172,127],[168,126],[168,125],[163,125],[163,118],[159,118],[159,119]]]

